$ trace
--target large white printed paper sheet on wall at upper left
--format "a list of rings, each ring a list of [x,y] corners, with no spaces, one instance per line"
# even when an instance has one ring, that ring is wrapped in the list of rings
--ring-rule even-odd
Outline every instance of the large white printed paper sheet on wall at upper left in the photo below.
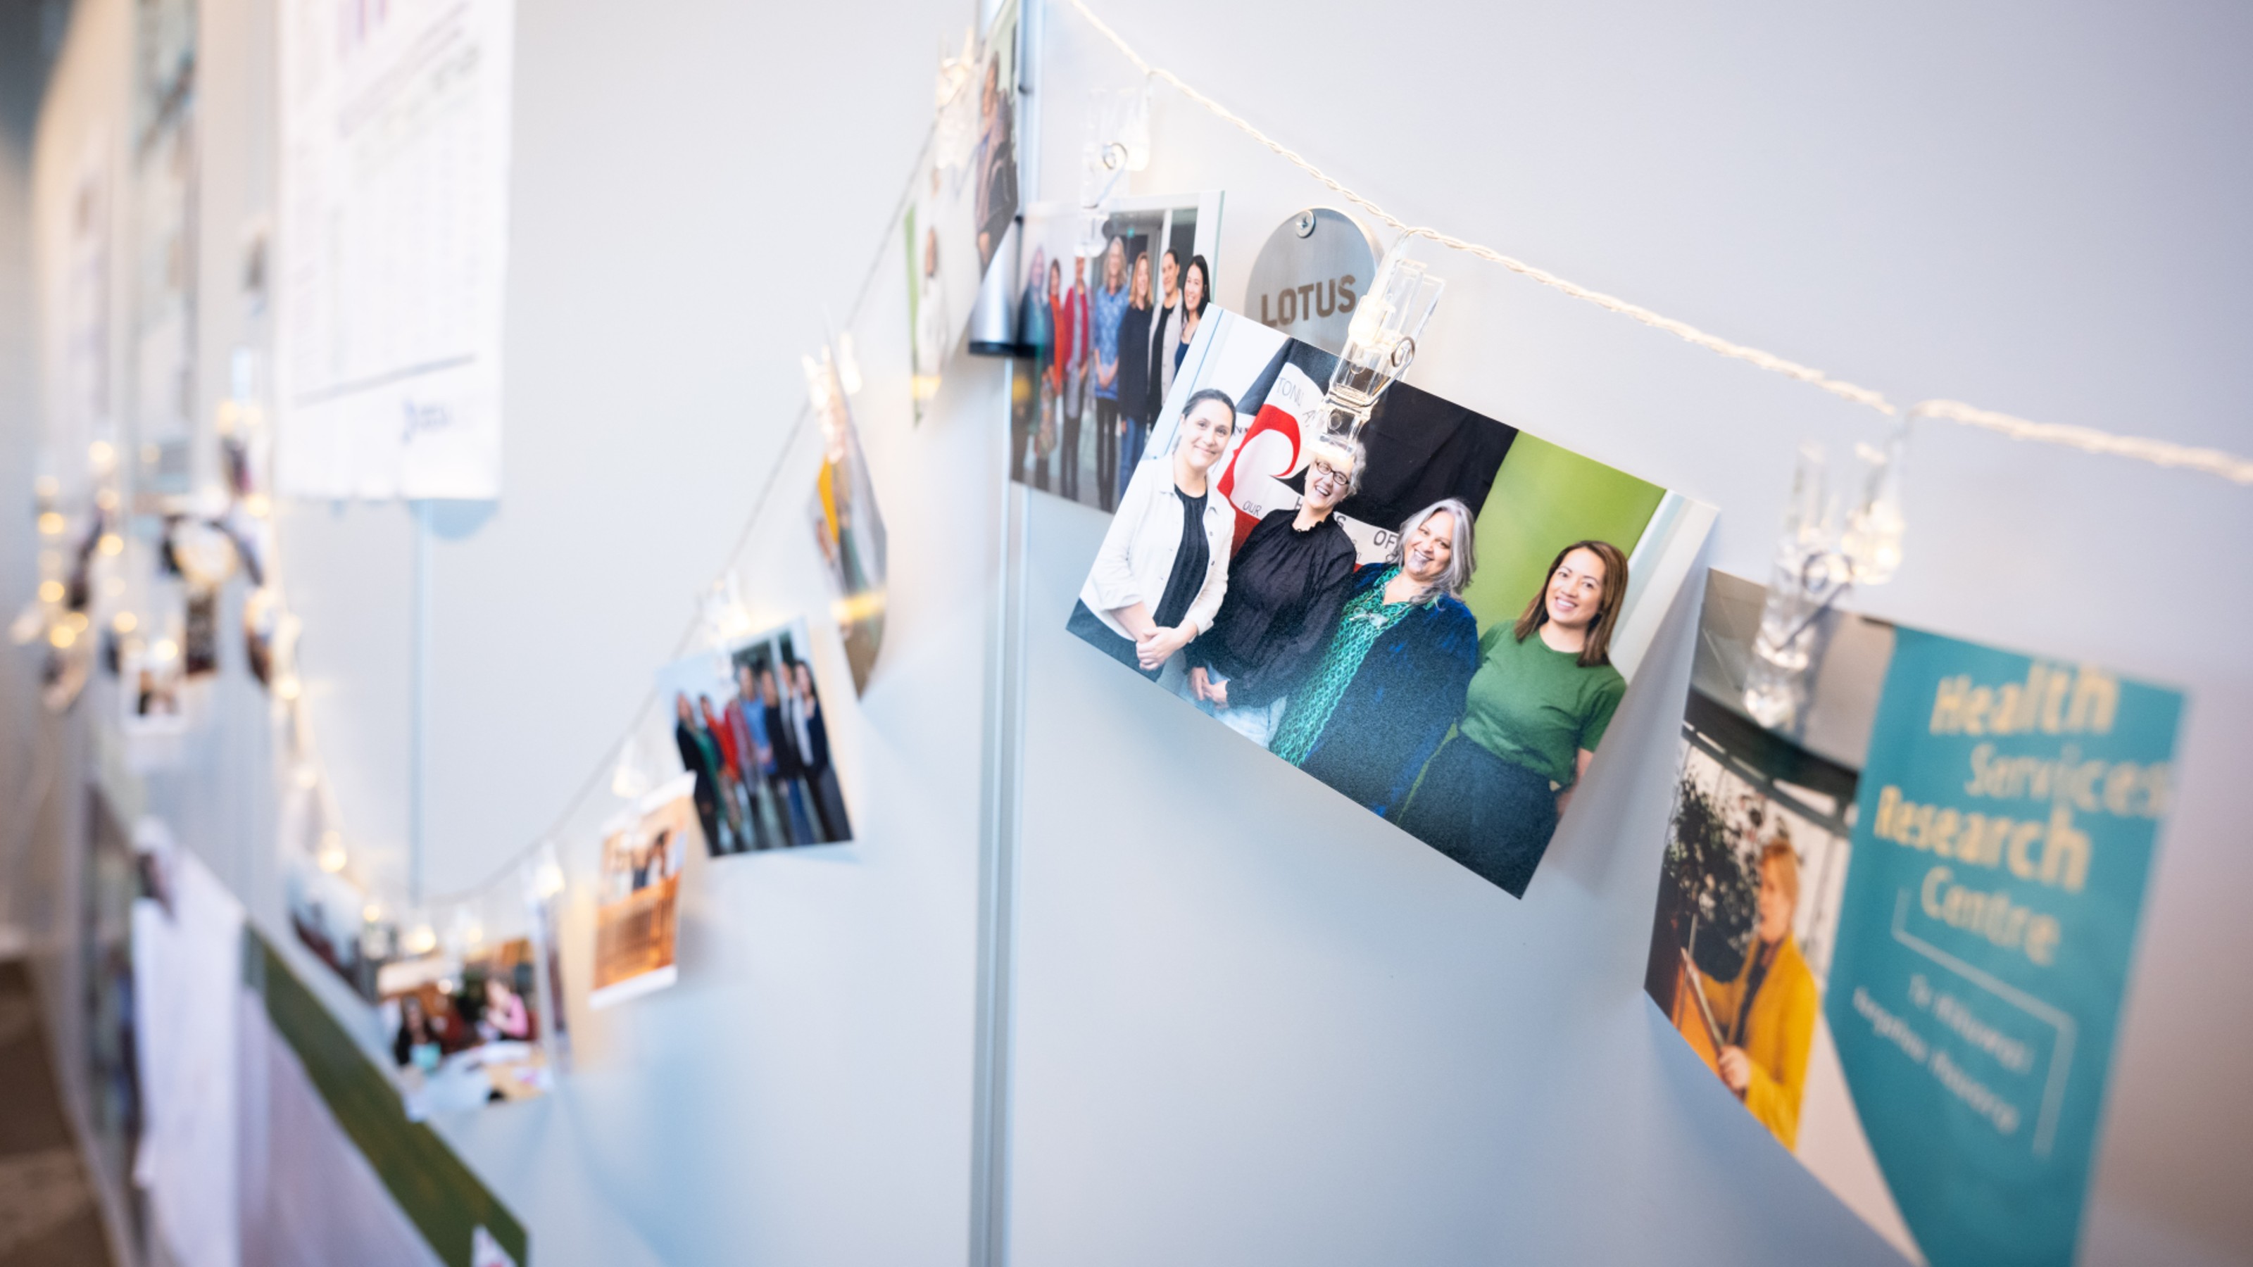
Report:
[[[511,0],[279,9],[286,496],[500,496]]]

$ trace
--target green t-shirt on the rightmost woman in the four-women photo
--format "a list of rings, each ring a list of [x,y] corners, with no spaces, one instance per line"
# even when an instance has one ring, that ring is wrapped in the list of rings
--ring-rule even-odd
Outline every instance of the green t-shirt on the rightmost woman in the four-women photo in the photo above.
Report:
[[[1478,638],[1478,674],[1462,710],[1462,735],[1510,764],[1573,787],[1579,748],[1604,739],[1627,679],[1611,665],[1582,667],[1579,652],[1555,652],[1534,629],[1519,643],[1514,622]]]

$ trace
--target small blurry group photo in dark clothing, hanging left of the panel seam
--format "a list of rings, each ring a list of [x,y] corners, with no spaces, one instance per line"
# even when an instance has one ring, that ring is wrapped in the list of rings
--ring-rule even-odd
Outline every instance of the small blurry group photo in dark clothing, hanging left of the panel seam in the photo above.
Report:
[[[658,674],[712,857],[852,839],[804,622]]]

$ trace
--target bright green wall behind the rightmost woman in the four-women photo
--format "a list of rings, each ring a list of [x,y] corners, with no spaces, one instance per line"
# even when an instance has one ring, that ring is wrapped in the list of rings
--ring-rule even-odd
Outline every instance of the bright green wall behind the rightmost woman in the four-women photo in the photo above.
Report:
[[[1462,600],[1478,629],[1516,620],[1573,541],[1633,555],[1665,489],[1528,433],[1510,444],[1478,514],[1478,573]]]

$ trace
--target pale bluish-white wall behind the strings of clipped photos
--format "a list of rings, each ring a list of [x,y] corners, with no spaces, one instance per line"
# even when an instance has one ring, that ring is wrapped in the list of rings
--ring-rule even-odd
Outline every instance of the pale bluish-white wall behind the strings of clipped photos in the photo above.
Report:
[[[90,41],[124,5],[77,9]],[[795,356],[888,243],[964,9],[518,9],[505,496],[444,512],[435,546],[430,886],[489,875],[606,762],[775,462],[743,582],[762,615],[818,627],[861,827],[698,866],[680,987],[575,1017],[584,1060],[556,1096],[442,1123],[543,1265],[964,1258],[1005,379],[962,363],[912,426],[899,273],[879,275],[856,410],[894,591],[858,703],[800,510],[811,449],[786,449]],[[2253,451],[2253,32],[2233,9],[1099,9],[1401,216],[1904,401]],[[270,196],[268,14],[205,7],[205,277]],[[1043,194],[1070,196],[1079,92],[1129,79],[1068,9],[1048,34]],[[1329,198],[1178,95],[1156,104],[1136,192],[1228,192],[1230,302],[1266,232]],[[1487,264],[1435,266],[1449,293],[1413,379],[1719,505],[1717,566],[1760,568],[1793,444],[1877,435],[1865,410]],[[207,298],[205,383],[239,320],[221,311]],[[1940,426],[1911,462],[1908,566],[1856,606],[2192,692],[2089,1260],[2253,1256],[2253,931],[2233,906],[2253,789],[2230,762],[2253,751],[2253,573],[2228,555],[2253,496]],[[291,505],[282,530],[342,809],[367,852],[403,857],[408,512]],[[1640,994],[1687,604],[1597,767],[1618,791],[1584,800],[1514,902],[1063,638],[1097,532],[1036,500],[1018,1262],[1888,1260]],[[210,762],[153,791],[273,927],[264,751]],[[566,832],[581,877],[599,809]],[[568,967],[584,981],[584,947]]]

